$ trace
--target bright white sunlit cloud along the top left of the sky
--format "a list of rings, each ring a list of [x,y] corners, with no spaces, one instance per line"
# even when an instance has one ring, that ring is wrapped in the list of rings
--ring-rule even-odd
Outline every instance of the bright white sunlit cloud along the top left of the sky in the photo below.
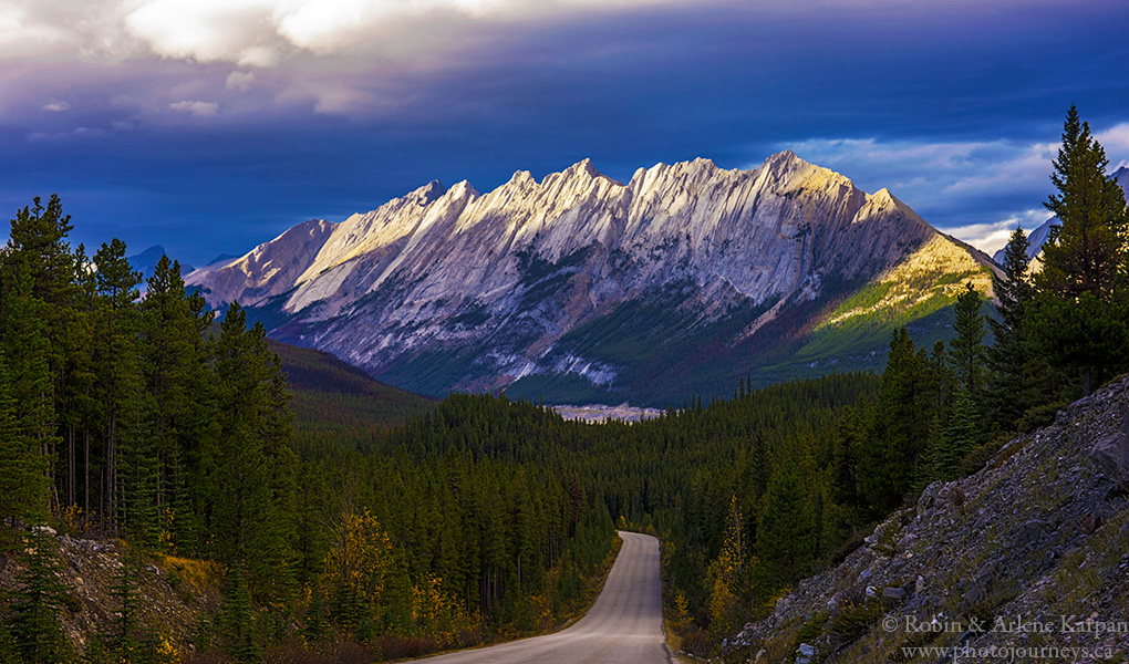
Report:
[[[122,61],[149,53],[273,67],[295,52],[447,52],[471,24],[689,0],[6,0],[0,60],[69,53]],[[457,26],[453,32],[450,26]],[[441,37],[441,38],[435,38]],[[460,37],[460,38],[452,38]]]

